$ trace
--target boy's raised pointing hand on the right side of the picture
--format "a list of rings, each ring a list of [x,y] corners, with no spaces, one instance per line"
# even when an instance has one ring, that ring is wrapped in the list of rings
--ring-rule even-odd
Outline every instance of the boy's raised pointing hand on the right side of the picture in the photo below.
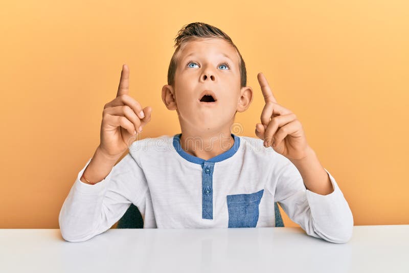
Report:
[[[262,73],[257,75],[265,106],[261,113],[261,123],[256,124],[256,135],[264,140],[265,147],[272,148],[290,160],[300,160],[311,149],[297,116],[277,103],[272,95],[267,79]]]

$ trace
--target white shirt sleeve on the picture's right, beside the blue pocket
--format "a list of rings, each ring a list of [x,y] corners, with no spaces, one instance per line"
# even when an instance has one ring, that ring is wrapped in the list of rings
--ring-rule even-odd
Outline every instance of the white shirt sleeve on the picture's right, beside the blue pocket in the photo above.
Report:
[[[297,167],[288,161],[277,181],[275,201],[308,235],[333,243],[346,243],[352,237],[352,212],[334,177],[327,169],[325,171],[334,191],[321,195],[306,189]]]

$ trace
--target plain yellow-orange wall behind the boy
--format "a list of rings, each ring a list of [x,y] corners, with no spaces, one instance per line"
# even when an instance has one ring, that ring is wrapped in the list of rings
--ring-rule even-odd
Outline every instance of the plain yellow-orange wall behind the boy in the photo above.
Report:
[[[142,137],[180,131],[161,88],[173,39],[193,21],[225,31],[245,60],[255,97],[237,113],[241,135],[255,137],[263,72],[302,122],[354,224],[409,224],[408,2],[282,2],[3,1],[0,228],[59,227],[123,63],[130,95],[153,108]]]

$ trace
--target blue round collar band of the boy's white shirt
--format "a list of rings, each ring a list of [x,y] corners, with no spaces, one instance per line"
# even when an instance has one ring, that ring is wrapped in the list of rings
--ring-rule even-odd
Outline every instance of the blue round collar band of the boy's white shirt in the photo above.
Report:
[[[194,155],[191,155],[191,154],[187,153],[180,146],[181,133],[175,134],[173,136],[173,147],[176,149],[177,153],[181,157],[185,158],[187,161],[190,161],[192,163],[203,165],[203,163],[205,163],[205,162],[220,162],[220,161],[223,161],[223,160],[233,156],[240,147],[240,138],[237,137],[237,135],[235,135],[233,133],[231,135],[234,138],[233,146],[229,150],[227,150],[227,151],[225,151],[225,152],[223,152],[223,153],[221,153],[219,155],[216,155],[215,157],[212,157],[212,158],[210,158],[208,160],[204,160],[203,158],[200,158],[200,157],[197,157],[197,156],[194,156]]]

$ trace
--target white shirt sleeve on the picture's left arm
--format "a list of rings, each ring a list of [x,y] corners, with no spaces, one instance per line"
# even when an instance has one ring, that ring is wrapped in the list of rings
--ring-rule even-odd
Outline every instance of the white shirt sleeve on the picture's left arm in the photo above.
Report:
[[[146,177],[130,153],[95,185],[80,180],[91,160],[78,173],[60,210],[60,232],[66,241],[81,242],[101,234],[125,214],[131,203],[137,207],[144,203]]]

